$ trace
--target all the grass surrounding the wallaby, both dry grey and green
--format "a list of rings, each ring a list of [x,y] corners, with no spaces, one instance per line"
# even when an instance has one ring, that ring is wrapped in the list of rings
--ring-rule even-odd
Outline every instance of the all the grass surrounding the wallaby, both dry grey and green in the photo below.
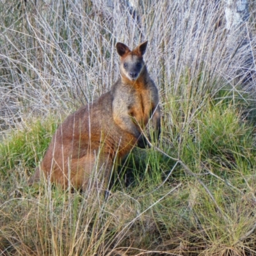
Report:
[[[0,255],[253,255],[254,92],[219,2],[1,1]],[[116,42],[143,40],[159,143],[115,166],[106,196],[28,187],[61,120],[115,83]]]

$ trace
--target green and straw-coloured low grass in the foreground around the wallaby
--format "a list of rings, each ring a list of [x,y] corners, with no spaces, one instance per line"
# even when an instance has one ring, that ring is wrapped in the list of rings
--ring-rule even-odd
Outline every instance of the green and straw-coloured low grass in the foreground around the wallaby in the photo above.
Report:
[[[242,118],[248,99],[220,95],[209,95],[186,129],[175,115],[189,115],[191,108],[170,97],[172,111],[167,102],[163,113],[172,113],[172,126],[163,126],[159,147],[135,149],[113,173],[108,198],[62,191],[44,181],[28,187],[26,179],[56,129],[52,118],[10,134],[0,147],[1,252],[253,252],[255,139],[252,122]]]

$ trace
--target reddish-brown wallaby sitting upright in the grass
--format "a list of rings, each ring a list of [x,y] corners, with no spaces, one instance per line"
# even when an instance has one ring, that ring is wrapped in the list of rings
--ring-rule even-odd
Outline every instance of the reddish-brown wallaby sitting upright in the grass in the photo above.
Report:
[[[58,127],[29,184],[40,179],[40,169],[63,188],[70,182],[85,189],[95,169],[103,173],[101,179],[108,179],[115,159],[124,158],[136,144],[146,146],[141,129],[151,115],[158,138],[159,97],[143,62],[146,48],[147,42],[133,51],[116,44],[120,79],[109,92],[78,109]]]

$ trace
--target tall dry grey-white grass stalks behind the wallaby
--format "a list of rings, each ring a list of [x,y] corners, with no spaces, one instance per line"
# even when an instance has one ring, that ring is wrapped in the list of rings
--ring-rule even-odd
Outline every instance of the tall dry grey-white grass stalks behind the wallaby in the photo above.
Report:
[[[148,0],[138,5],[138,19],[116,1],[0,4],[2,129],[23,113],[47,115],[60,107],[68,113],[109,90],[118,77],[118,41],[150,42],[147,65],[163,97],[193,90],[200,99],[225,83],[237,85],[243,56],[235,54],[239,62],[230,67],[220,3]],[[193,88],[184,77],[195,81]]]

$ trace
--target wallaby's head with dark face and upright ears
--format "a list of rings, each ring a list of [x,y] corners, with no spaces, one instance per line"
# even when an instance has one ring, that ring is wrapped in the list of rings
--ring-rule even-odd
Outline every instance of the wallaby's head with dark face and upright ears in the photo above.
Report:
[[[120,74],[122,78],[136,81],[143,74],[146,68],[143,54],[145,54],[147,44],[148,42],[146,41],[132,51],[125,44],[116,44],[116,51],[120,55]]]

